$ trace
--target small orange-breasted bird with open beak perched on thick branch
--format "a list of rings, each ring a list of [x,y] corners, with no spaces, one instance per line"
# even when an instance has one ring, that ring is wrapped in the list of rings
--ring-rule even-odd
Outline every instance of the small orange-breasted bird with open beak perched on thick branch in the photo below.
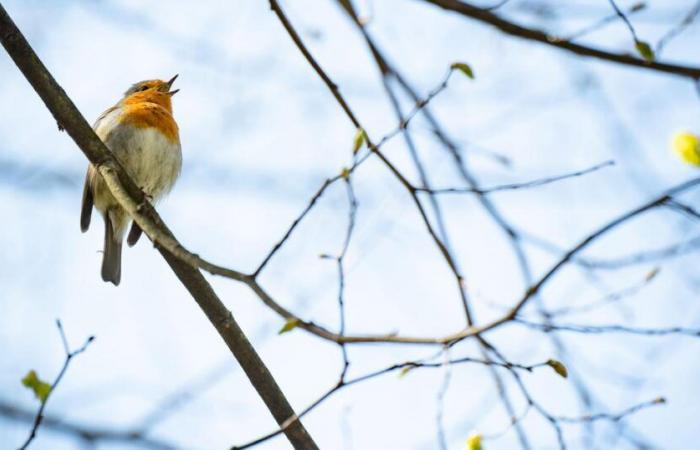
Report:
[[[133,84],[92,127],[152,203],[172,189],[182,170],[182,147],[172,108],[172,96],[179,91],[172,89],[177,77]],[[93,206],[105,223],[102,279],[118,286],[122,242],[131,217],[114,198],[95,166],[89,164],[80,212],[83,233],[90,227]],[[129,246],[135,245],[140,236],[141,228],[133,222],[127,238]]]

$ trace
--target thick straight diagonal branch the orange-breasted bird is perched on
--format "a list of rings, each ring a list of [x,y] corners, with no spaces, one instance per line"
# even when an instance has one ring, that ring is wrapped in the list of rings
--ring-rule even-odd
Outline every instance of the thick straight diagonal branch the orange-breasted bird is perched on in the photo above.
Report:
[[[144,198],[141,190],[129,178],[46,69],[2,5],[0,5],[0,42],[51,111],[59,128],[66,130],[88,160],[102,174],[122,206],[132,213],[137,223],[153,240],[158,251],[236,357],[277,423],[282,424],[289,417],[295,416],[284,393],[248,341],[243,330],[238,326],[231,312],[224,306],[198,269],[193,267],[189,261],[183,260],[178,253],[170,251],[173,247],[166,249],[163,245],[163,242],[171,243],[174,245],[174,250],[184,250]],[[166,240],[156,239],[156,237],[160,238],[161,236],[165,237]],[[292,426],[288,427],[285,434],[296,449],[317,448],[300,421],[295,421]]]

